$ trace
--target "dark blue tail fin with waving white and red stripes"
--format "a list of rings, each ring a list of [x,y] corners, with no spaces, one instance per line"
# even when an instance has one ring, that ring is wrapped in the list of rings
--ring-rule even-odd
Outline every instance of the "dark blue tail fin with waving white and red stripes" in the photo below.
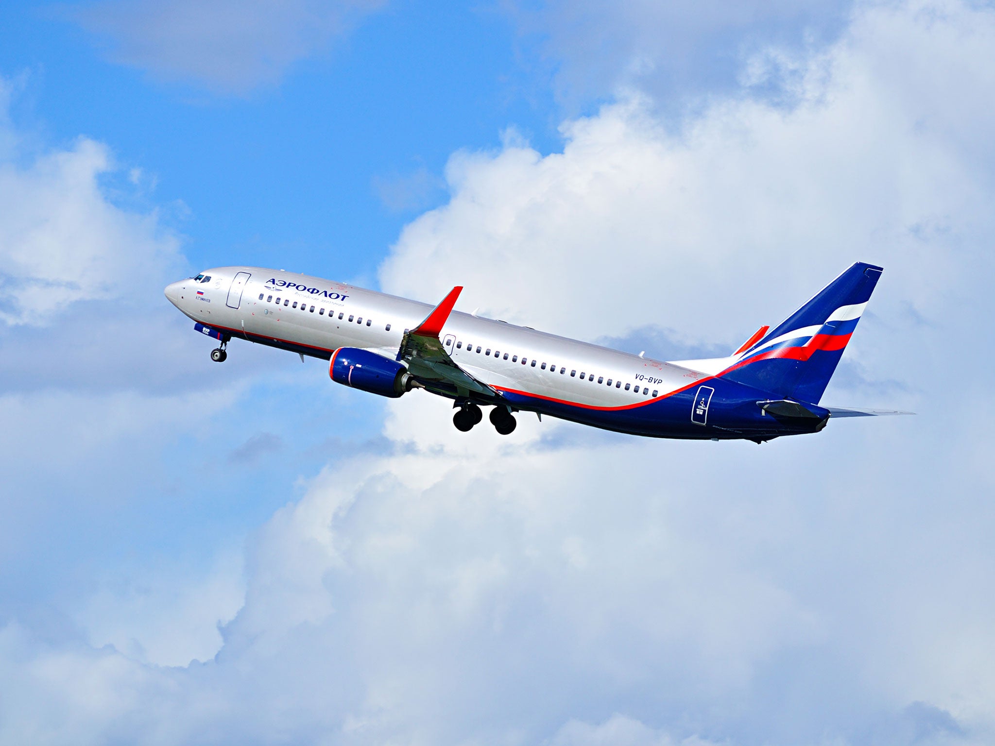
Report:
[[[882,272],[881,267],[854,264],[740,352],[720,376],[778,397],[818,404]]]

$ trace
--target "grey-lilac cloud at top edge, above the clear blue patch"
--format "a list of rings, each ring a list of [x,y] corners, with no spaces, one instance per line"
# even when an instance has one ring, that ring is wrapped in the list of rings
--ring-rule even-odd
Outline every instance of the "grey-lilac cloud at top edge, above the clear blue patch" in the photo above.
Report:
[[[226,93],[277,83],[322,52],[383,0],[99,0],[82,6],[84,28],[111,41],[111,56],[167,79]]]

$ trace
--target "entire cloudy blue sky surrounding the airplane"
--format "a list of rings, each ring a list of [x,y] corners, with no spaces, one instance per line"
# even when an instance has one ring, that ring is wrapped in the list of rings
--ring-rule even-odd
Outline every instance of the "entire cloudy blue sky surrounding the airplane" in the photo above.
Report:
[[[0,743],[990,743],[993,45],[957,0],[5,5]],[[858,260],[824,399],[917,416],[761,448],[461,435],[162,295],[460,283],[683,358]]]

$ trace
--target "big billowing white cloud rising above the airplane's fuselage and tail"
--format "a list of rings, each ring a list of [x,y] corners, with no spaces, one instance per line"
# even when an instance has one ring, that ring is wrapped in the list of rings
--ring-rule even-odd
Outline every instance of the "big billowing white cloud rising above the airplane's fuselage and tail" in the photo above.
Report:
[[[886,267],[872,310],[934,322],[992,228],[977,61],[995,33],[949,8],[941,25],[867,11],[807,62],[790,110],[721,99],[673,133],[630,94],[567,122],[562,153],[458,154],[449,204],[381,279],[427,300],[466,284],[467,308],[571,336],[659,323],[731,345],[864,260]]]

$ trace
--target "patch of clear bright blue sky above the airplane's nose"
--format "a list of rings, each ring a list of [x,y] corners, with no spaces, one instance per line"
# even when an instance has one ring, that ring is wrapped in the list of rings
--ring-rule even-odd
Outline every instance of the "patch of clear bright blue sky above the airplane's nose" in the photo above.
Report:
[[[80,12],[5,11],[3,66],[27,89],[13,115],[48,142],[112,143],[118,159],[153,175],[157,204],[185,206],[175,228],[193,265],[262,263],[281,251],[315,272],[372,277],[407,205],[444,196],[431,181],[393,210],[378,183],[420,171],[438,180],[451,152],[495,147],[509,125],[547,147],[556,139],[550,94],[516,61],[497,8],[387,7],[286,78],[222,93],[108,62],[72,22]]]

